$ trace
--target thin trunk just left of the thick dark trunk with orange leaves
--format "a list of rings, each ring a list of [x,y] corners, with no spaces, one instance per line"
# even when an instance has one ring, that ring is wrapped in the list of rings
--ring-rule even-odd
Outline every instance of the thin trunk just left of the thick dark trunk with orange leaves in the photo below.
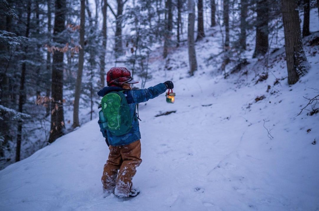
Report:
[[[49,37],[49,42],[51,42],[51,0],[47,0],[47,5],[48,5],[48,37]],[[49,43],[50,45],[50,43]],[[49,98],[50,93],[51,93],[51,83],[50,83],[50,78],[51,78],[51,53],[47,51],[47,74],[48,74],[48,80],[46,82],[47,90],[46,90],[46,96]],[[51,105],[50,103],[47,104],[46,108],[46,117],[50,115],[51,111]]]

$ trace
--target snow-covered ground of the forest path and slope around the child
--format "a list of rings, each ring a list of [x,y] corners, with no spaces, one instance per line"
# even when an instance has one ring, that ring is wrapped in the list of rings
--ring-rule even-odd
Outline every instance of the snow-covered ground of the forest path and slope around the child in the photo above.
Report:
[[[319,142],[319,114],[297,116],[308,103],[304,97],[317,95],[319,46],[305,42],[312,68],[293,86],[283,48],[270,54],[269,77],[256,84],[266,59],[249,59],[224,79],[205,66],[219,46],[216,33],[197,43],[194,77],[187,77],[186,46],[168,64],[152,62],[147,85],[173,80],[176,101],[167,104],[163,94],[140,105],[136,198],[103,198],[109,151],[95,119],[0,171],[0,210],[319,210],[319,144],[312,144]],[[167,111],[176,113],[155,117]]]

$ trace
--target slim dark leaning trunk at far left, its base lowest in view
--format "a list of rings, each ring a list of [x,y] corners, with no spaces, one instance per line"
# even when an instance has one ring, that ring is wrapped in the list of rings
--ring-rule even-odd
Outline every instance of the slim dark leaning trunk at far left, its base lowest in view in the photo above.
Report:
[[[31,1],[27,3],[27,18],[26,18],[26,38],[29,38],[30,32],[30,19],[31,19]],[[24,47],[23,59],[26,60],[26,53],[28,51],[28,46]],[[20,91],[19,91],[19,109],[20,113],[23,113],[23,104],[25,103],[26,93],[24,89],[24,84],[26,80],[26,62],[22,63],[21,67],[21,77],[20,77]],[[17,134],[17,148],[16,148],[16,162],[20,161],[20,151],[21,151],[21,141],[22,141],[22,124],[21,120],[18,121],[18,134]]]

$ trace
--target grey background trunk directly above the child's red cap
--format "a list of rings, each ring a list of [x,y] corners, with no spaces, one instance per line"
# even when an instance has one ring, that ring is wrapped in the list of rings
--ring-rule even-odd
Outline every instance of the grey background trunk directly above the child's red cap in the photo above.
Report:
[[[115,31],[115,56],[116,58],[123,54],[122,44],[122,14],[123,14],[123,0],[117,0],[117,15],[116,15],[116,31]]]

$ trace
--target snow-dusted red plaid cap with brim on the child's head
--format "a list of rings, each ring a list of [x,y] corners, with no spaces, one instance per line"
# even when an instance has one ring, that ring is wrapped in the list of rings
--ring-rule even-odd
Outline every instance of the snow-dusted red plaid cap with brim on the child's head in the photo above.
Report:
[[[112,67],[106,76],[109,87],[122,87],[123,83],[138,83],[131,77],[131,72],[126,67]]]

